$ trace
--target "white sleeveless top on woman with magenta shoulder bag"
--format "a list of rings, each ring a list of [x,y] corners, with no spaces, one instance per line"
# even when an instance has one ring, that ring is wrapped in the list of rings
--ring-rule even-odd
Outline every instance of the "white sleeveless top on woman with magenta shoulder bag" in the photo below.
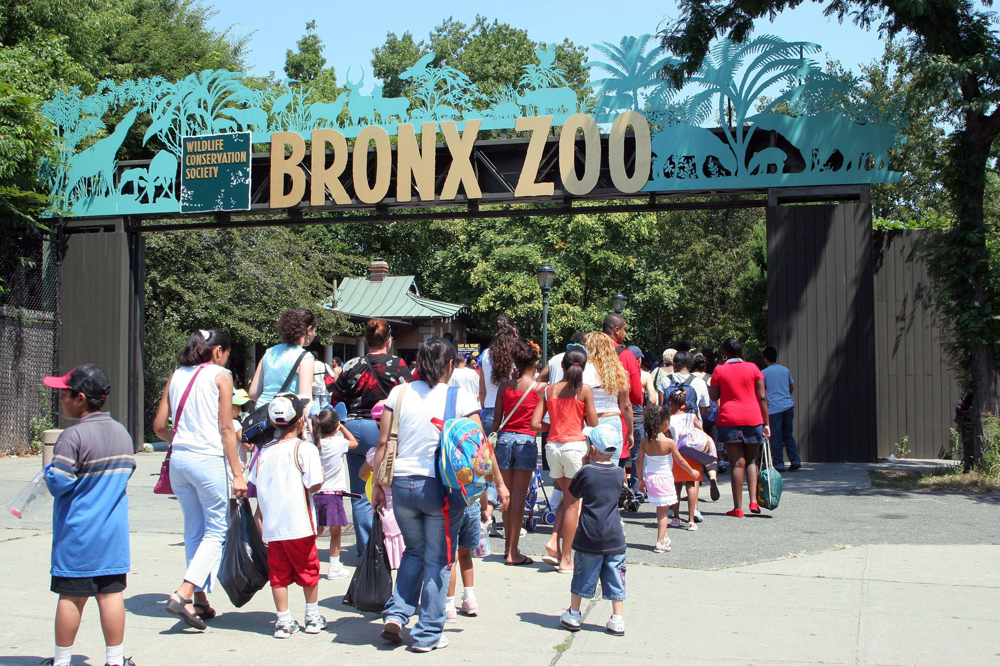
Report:
[[[206,365],[191,386],[191,392],[188,393],[188,399],[181,410],[180,420],[177,420],[177,406],[197,369],[197,365],[182,365],[174,370],[173,376],[170,377],[168,391],[170,413],[177,425],[173,445],[175,448],[196,453],[221,456],[223,451],[222,433],[219,432],[219,387],[215,384],[215,377],[229,370],[215,363]]]

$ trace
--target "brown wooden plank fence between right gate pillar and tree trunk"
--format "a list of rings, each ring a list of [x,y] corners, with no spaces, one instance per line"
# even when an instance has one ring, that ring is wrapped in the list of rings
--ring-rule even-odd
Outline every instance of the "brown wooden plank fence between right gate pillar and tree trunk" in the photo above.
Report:
[[[927,269],[916,246],[927,232],[875,235],[878,453],[909,436],[912,457],[936,458],[948,443],[961,391],[942,349]]]

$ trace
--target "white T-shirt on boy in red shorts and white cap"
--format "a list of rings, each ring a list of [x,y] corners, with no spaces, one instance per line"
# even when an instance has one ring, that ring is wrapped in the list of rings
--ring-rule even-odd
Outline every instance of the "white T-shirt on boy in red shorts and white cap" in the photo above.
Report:
[[[323,482],[323,463],[315,444],[302,439],[265,444],[249,480],[257,486],[265,542],[301,539],[316,533],[316,507],[311,495],[306,500],[306,488]]]

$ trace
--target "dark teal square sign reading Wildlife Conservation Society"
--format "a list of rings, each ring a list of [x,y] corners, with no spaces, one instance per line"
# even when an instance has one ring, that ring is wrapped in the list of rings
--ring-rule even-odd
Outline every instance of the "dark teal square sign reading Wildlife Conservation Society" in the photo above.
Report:
[[[250,210],[249,132],[184,137],[181,213]]]

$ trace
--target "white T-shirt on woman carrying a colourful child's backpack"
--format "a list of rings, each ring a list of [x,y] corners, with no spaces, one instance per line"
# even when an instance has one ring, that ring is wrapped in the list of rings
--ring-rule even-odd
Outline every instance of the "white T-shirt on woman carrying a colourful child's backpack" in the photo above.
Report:
[[[399,439],[396,444],[395,476],[437,476],[434,469],[434,452],[441,440],[441,430],[431,418],[444,418],[448,384],[438,383],[433,388],[422,379],[394,386],[385,400],[385,408],[393,410],[399,391],[406,387],[398,418]],[[455,403],[456,416],[479,413],[479,399],[467,390],[458,389]]]

